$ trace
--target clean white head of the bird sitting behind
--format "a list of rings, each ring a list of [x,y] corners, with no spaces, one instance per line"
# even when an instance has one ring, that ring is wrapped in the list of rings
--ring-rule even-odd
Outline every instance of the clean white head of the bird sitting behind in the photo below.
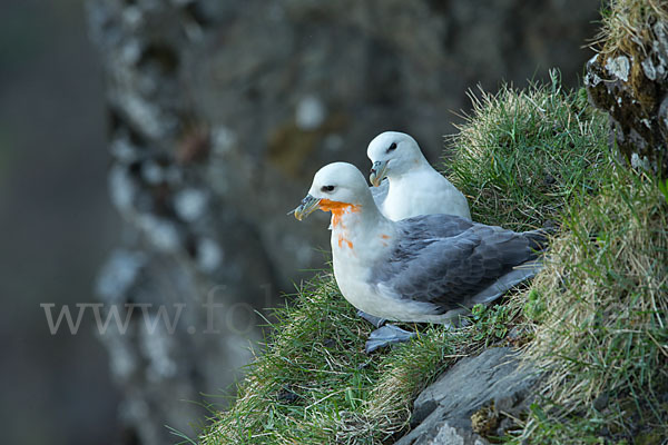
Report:
[[[397,131],[385,131],[373,138],[366,156],[372,162],[370,180],[376,187],[384,178],[392,180],[426,162],[415,139]]]

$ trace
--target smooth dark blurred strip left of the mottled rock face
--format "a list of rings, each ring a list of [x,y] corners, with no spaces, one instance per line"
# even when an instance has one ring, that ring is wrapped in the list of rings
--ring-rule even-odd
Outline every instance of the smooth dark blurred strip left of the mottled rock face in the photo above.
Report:
[[[81,1],[0,4],[1,442],[110,443],[118,390],[91,320],[51,336],[40,307],[94,301],[119,240],[102,71]]]

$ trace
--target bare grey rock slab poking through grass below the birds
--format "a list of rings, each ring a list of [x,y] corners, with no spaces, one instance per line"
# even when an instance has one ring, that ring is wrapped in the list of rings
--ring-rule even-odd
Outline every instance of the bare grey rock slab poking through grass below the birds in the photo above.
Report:
[[[396,445],[488,444],[478,433],[503,435],[511,425],[508,416],[519,416],[529,406],[537,382],[530,368],[518,368],[510,348],[463,358],[420,394],[413,429]]]

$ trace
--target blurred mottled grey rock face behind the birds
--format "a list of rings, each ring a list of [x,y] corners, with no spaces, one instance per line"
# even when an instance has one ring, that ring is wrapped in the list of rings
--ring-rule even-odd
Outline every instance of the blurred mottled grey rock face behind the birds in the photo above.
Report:
[[[468,88],[522,83],[537,66],[572,85],[586,59],[573,51],[598,17],[598,3],[576,0],[87,4],[106,71],[109,189],[127,221],[100,299],[121,317],[151,304],[149,319],[184,305],[173,332],[144,333],[138,307],[125,334],[102,336],[143,444],[204,417],[179,399],[233,382],[258,335],[238,334],[253,318],[243,308],[275,306],[298,270],[323,265],[326,216],[286,216],[322,165],[367,170],[366,145],[390,129],[435,161]],[[223,308],[205,306],[212,295]]]

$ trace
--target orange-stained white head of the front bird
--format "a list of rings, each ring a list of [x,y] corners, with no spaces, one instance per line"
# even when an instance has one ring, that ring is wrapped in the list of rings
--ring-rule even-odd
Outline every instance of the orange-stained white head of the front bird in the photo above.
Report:
[[[362,172],[352,164],[334,162],[315,174],[308,195],[294,211],[295,217],[302,220],[317,208],[336,216],[358,211],[366,206],[375,204]]]

